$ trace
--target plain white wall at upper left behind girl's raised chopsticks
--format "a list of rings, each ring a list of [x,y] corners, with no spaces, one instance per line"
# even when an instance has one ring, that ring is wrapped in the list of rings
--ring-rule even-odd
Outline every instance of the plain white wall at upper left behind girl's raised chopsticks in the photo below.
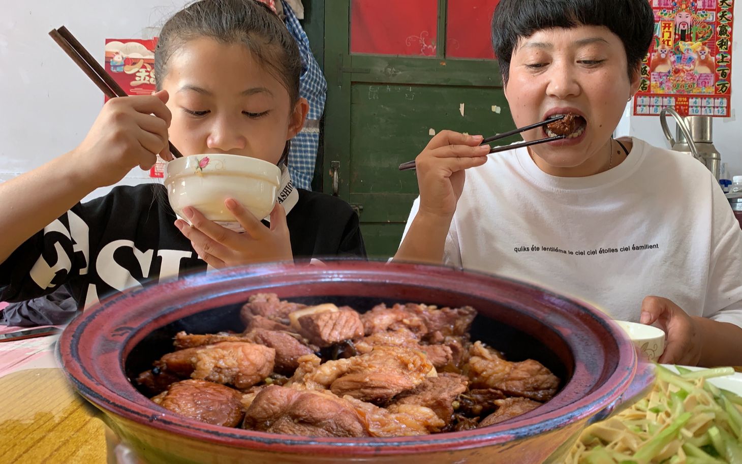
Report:
[[[103,62],[105,39],[149,39],[185,3],[0,0],[0,182],[75,148],[103,104],[102,92],[50,30],[67,26]],[[149,180],[148,172],[136,169],[124,183]]]

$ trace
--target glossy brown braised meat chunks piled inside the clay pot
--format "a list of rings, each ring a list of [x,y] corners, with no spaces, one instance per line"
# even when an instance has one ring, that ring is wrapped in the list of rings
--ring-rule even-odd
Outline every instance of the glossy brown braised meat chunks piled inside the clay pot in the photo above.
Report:
[[[557,376],[472,342],[475,317],[472,307],[416,303],[359,314],[261,293],[240,311],[243,327],[177,333],[176,350],[137,382],[192,419],[312,437],[469,430],[551,399]]]

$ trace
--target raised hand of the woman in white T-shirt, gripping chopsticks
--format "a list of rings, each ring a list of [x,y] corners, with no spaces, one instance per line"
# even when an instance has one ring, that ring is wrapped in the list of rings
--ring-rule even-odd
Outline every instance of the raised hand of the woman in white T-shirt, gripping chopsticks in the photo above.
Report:
[[[464,169],[482,166],[490,146],[481,135],[440,131],[415,158],[420,209],[424,215],[453,217],[464,189]],[[418,213],[419,214],[419,213]]]

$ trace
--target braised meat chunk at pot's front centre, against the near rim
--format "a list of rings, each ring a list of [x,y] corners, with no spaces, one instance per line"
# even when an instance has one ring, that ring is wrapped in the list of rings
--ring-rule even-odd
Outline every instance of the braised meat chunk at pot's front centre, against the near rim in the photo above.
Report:
[[[250,402],[243,428],[307,437],[368,437],[355,408],[329,392],[269,385]]]

